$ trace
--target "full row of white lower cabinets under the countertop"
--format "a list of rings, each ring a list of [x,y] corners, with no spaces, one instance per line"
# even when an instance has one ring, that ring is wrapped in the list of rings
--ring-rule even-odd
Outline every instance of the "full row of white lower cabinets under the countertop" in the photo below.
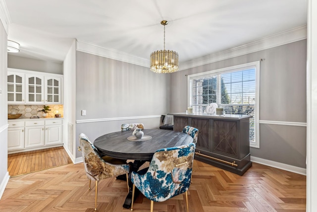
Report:
[[[61,146],[63,119],[8,120],[11,153]]]

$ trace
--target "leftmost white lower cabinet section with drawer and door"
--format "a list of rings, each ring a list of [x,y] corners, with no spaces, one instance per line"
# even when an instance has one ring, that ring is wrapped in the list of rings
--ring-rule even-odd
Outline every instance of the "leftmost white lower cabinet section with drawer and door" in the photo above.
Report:
[[[24,148],[24,122],[9,122],[8,151]]]

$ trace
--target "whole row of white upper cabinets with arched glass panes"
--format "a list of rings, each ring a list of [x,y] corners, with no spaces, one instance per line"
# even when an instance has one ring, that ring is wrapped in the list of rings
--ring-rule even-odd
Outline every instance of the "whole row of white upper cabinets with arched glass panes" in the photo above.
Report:
[[[8,68],[9,104],[62,104],[63,75]]]

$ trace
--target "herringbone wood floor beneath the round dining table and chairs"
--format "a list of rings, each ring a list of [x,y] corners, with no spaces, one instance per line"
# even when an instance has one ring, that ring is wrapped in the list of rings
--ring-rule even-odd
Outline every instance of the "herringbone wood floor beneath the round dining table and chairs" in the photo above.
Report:
[[[93,212],[95,184],[83,163],[68,164],[9,179],[0,212]],[[126,182],[110,178],[99,183],[98,211],[122,208]],[[306,176],[253,163],[239,176],[195,160],[188,192],[190,212],[305,212]],[[154,203],[155,212],[185,212],[185,195]],[[150,201],[139,196],[135,212],[149,212]]]

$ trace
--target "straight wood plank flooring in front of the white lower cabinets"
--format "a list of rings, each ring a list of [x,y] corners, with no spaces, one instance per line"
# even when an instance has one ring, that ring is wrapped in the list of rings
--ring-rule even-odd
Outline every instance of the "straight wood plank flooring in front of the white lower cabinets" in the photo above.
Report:
[[[8,154],[8,172],[11,177],[69,163],[72,161],[62,146]]]

